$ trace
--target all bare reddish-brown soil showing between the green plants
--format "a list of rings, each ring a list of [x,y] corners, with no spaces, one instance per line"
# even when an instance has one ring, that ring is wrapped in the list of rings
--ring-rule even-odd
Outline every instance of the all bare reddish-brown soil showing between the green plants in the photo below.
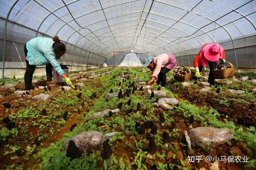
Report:
[[[73,83],[75,83],[75,81],[73,81]],[[78,82],[78,81],[77,81]],[[96,86],[96,87],[101,87],[102,85],[96,81],[90,81],[88,82],[90,83],[92,86]],[[39,86],[45,86],[46,82],[44,81],[40,81],[40,83],[38,84]],[[34,86],[36,86],[36,84],[34,84]],[[55,96],[58,95],[59,93],[59,87],[60,85],[56,85],[56,86],[52,86],[52,91],[48,92],[50,94],[54,94]],[[22,83],[18,84],[16,87],[16,90],[24,90],[25,87]],[[183,87],[176,87],[176,86],[172,86],[170,88],[170,90],[172,92],[174,92],[175,94],[178,95],[177,99],[181,100],[188,100],[191,103],[196,104],[198,107],[203,107],[203,106],[210,106],[213,107],[214,109],[216,109],[219,113],[222,114],[222,117],[220,119],[228,119],[228,120],[233,120],[234,122],[237,123],[237,119],[239,117],[244,117],[243,119],[245,119],[245,116],[250,117],[250,119],[254,119],[256,120],[255,117],[255,112],[256,112],[256,108],[249,108],[251,106],[251,104],[254,103],[250,103],[250,104],[243,104],[243,103],[231,103],[230,107],[224,107],[224,106],[220,106],[218,104],[218,101],[216,100],[216,98],[218,98],[218,96],[209,96],[209,95],[202,95],[199,92],[197,92],[197,90],[193,89],[193,88],[183,88]],[[18,103],[15,102],[16,100],[18,100],[20,97],[14,96],[12,95],[12,93],[14,92],[14,90],[0,90],[0,94],[3,95],[3,98],[0,98],[0,103],[10,103],[12,109],[6,109],[3,106],[0,106],[0,116],[1,117],[7,117],[11,114],[11,112],[18,112],[21,109],[24,109],[26,107],[25,104],[22,103]],[[44,89],[39,89],[39,90],[33,90],[33,91],[29,91],[30,95],[35,96],[35,95],[39,95],[41,93],[45,93]],[[136,95],[138,95],[138,91],[135,92]],[[132,94],[131,94],[132,95]],[[69,131],[70,127],[76,123],[82,123],[83,118],[81,115],[83,115],[83,113],[89,112],[90,107],[94,106],[94,102],[98,100],[98,98],[101,96],[101,94],[97,94],[97,97],[94,98],[94,100],[92,101],[85,101],[88,102],[88,107],[84,107],[80,110],[81,114],[78,114],[77,112],[74,112],[73,109],[66,107],[65,110],[67,110],[69,113],[71,113],[71,117],[68,119],[68,121],[66,121],[65,125],[63,125],[62,127],[58,127],[57,124],[52,124],[51,127],[55,130],[60,130],[60,131],[55,131],[55,133],[53,135],[50,135],[49,133],[49,129],[50,127],[46,128],[44,130],[44,133],[49,135],[49,137],[47,137],[46,139],[40,141],[43,145],[38,145],[35,148],[35,151],[33,152],[33,154],[36,154],[39,149],[41,148],[47,148],[49,147],[50,143],[54,143],[59,141],[63,136],[60,134],[64,134],[66,132]],[[223,97],[229,97],[228,95],[224,95]],[[30,98],[26,95],[24,96],[24,98],[22,100],[26,101],[29,100]],[[33,101],[30,100],[30,102],[28,104],[32,105],[33,103],[36,103],[37,101]],[[54,102],[52,100],[49,100],[48,102]],[[47,108],[46,108],[47,109]],[[135,112],[135,111],[133,111]],[[143,111],[139,111],[139,112],[143,112]],[[159,113],[160,112],[164,112],[164,110],[157,108],[155,110],[155,112],[153,113],[154,116],[156,116],[159,119]],[[234,114],[235,113],[235,114]],[[118,113],[119,116],[122,117],[127,117],[127,113],[122,111],[120,113]],[[149,114],[147,114],[148,117],[150,117]],[[151,116],[153,116],[151,115]],[[226,115],[228,117],[226,117]],[[62,117],[63,115],[60,115],[60,117]],[[246,147],[245,143],[239,142],[239,141],[235,141],[235,140],[231,140],[230,144],[228,145],[227,143],[220,145],[216,148],[208,148],[208,149],[203,149],[203,148],[193,148],[193,152],[191,152],[187,146],[183,146],[181,145],[181,143],[186,143],[186,139],[185,139],[185,135],[184,135],[184,131],[189,131],[190,128],[188,127],[188,119],[186,117],[184,117],[182,112],[175,112],[175,115],[172,115],[174,121],[172,122],[172,124],[170,125],[164,125],[162,126],[159,122],[157,121],[153,121],[153,123],[158,127],[158,132],[159,134],[162,134],[165,131],[172,131],[173,129],[180,129],[177,132],[177,136],[171,136],[171,145],[169,145],[169,150],[164,150],[161,149],[160,147],[157,148],[156,153],[157,154],[165,154],[165,158],[155,158],[155,159],[149,159],[149,158],[143,158],[142,163],[146,165],[146,167],[150,170],[150,169],[155,169],[154,167],[152,167],[151,165],[154,164],[158,164],[158,162],[161,163],[174,163],[174,164],[180,164],[180,159],[182,160],[186,160],[187,156],[199,156],[199,155],[203,155],[203,156],[207,156],[207,155],[211,155],[212,157],[220,157],[220,156],[226,156],[228,157],[228,155],[231,155],[230,151],[233,149],[233,147],[237,147],[239,148],[244,154],[248,154],[250,152],[252,152],[250,149],[248,149]],[[42,119],[42,117],[38,118],[38,119]],[[106,118],[105,120],[110,120],[110,117]],[[31,119],[25,120],[26,122],[31,121]],[[245,121],[245,120],[244,120]],[[142,119],[140,119],[140,122],[143,122]],[[0,121],[1,125],[4,125],[4,123],[2,121]],[[256,126],[255,122],[252,124],[254,126]],[[194,123],[192,124],[193,128],[197,128],[203,125],[202,121],[194,121]],[[104,129],[108,129],[110,131],[112,131],[112,127],[105,125],[105,124],[101,124],[98,123],[97,124],[98,128],[104,128]],[[28,131],[26,132],[26,134],[22,134],[19,133],[17,137],[13,137],[11,138],[11,141],[8,141],[8,144],[15,144],[18,145],[22,148],[22,150],[25,150],[25,148],[27,147],[27,145],[29,143],[33,143],[34,138],[30,139],[28,137],[27,134],[31,134],[32,136],[36,137],[37,136],[37,132],[39,130],[39,125],[37,126],[33,126],[33,128],[28,129]],[[134,141],[140,141],[141,139],[145,139],[146,138],[146,134],[138,134],[136,136],[134,135],[130,135],[129,133],[126,132],[126,129],[122,129],[122,127],[117,127],[115,129],[115,131],[120,131],[123,132],[125,134],[125,137],[123,140],[116,140],[113,143],[114,149],[113,149],[113,155],[117,157],[117,159],[119,158],[130,158],[130,159],[125,159],[125,164],[129,165],[133,162],[133,157],[134,157],[134,152],[138,152],[139,150],[134,147],[135,142]],[[24,142],[27,141],[27,142]],[[125,143],[129,143],[129,146],[125,146]],[[17,157],[17,159],[15,160],[11,160],[11,157],[15,156],[15,153],[13,154],[8,154],[6,156],[3,156],[5,153],[5,142],[1,143],[0,146],[0,169],[4,169],[4,164],[7,165],[11,165],[11,164],[23,164],[25,169],[29,169],[29,168],[33,168],[33,169],[39,169],[39,167],[34,167],[34,165],[37,165],[39,162],[37,159],[35,159],[33,157],[33,155],[31,156],[27,156],[27,155],[22,155],[21,157]],[[232,146],[232,147],[231,147]],[[145,140],[145,142],[143,143],[143,147],[147,148],[148,147],[148,140]],[[102,152],[103,149],[101,148],[100,151]],[[176,154],[176,158],[169,158],[169,155],[172,154]],[[29,158],[29,161],[26,161],[23,158]],[[251,157],[251,159],[255,159],[255,155],[253,157]],[[184,167],[190,167],[191,169],[197,169],[198,167],[204,167],[205,169],[210,169],[211,164],[206,163],[204,160],[200,161],[199,163],[187,163],[186,161]],[[244,164],[236,164],[236,163],[223,163],[223,162],[219,162],[218,163],[219,168],[220,169],[226,169],[226,170],[238,170],[238,169],[244,169],[247,170],[247,168],[245,168]],[[99,167],[102,167],[102,165],[99,165]],[[136,169],[137,166],[132,166],[133,169]]]

